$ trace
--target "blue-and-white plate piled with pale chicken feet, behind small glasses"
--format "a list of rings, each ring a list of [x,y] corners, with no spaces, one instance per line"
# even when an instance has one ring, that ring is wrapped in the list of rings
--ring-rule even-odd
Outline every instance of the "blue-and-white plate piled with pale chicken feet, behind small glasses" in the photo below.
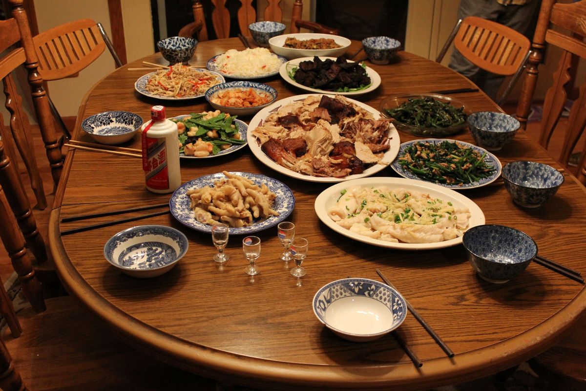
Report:
[[[258,232],[287,219],[294,206],[295,196],[287,185],[249,172],[223,171],[201,176],[183,183],[169,200],[175,219],[207,233],[212,232],[211,224],[216,221],[228,224],[230,234]]]

